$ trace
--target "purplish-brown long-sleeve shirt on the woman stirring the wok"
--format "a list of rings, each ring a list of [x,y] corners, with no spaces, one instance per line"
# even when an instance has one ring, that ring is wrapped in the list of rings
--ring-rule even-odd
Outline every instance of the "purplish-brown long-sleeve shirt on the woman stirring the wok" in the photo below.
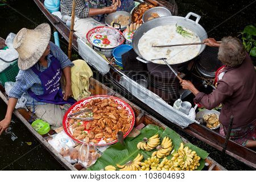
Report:
[[[220,122],[225,127],[234,115],[233,129],[256,122],[256,72],[249,55],[237,67],[225,67],[224,76],[210,94],[199,92],[194,101],[207,109],[222,103]]]

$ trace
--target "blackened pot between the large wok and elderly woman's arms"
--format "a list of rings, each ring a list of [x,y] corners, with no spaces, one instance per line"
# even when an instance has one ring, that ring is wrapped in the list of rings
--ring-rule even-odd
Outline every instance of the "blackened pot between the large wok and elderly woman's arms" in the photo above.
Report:
[[[218,60],[217,47],[205,47],[197,62],[202,68],[209,72],[216,72],[223,64]]]

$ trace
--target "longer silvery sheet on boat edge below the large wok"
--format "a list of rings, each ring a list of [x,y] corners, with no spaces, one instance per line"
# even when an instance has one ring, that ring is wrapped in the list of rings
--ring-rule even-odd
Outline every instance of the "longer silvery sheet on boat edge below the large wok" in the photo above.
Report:
[[[163,115],[163,117],[168,119],[170,122],[173,122],[182,128],[195,122],[194,119],[191,119],[188,115],[175,110],[174,107],[168,105],[158,95],[137,84],[137,82],[131,80],[129,77],[123,75],[119,84],[125,87],[131,94],[133,94],[133,96],[137,97],[144,104],[150,106],[156,112]]]

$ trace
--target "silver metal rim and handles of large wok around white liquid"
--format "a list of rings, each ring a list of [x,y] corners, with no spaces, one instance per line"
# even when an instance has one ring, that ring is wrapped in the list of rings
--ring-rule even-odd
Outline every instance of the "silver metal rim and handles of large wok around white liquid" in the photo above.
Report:
[[[189,19],[191,15],[196,17],[195,21]],[[204,39],[207,39],[207,32],[198,23],[200,18],[201,18],[200,15],[197,15],[195,13],[189,12],[185,17],[181,17],[181,16],[167,16],[167,17],[161,17],[161,18],[157,18],[157,19],[152,19],[152,20],[142,24],[142,26],[139,27],[138,30],[135,31],[135,33],[133,35],[133,49],[134,49],[134,51],[138,55],[137,59],[139,61],[142,61],[143,63],[154,64],[154,63],[151,63],[150,61],[147,61],[146,59],[143,58],[143,56],[139,52],[138,43],[139,43],[139,39],[141,39],[141,37],[143,36],[144,33],[146,33],[148,30],[151,30],[152,28],[155,28],[155,27],[164,26],[164,25],[167,25],[167,24],[171,24],[171,25],[172,24],[177,24],[179,26],[188,28],[189,30],[195,32],[199,36],[201,41],[203,41]],[[204,49],[205,49],[205,45],[202,45],[198,55],[200,55],[200,53],[203,52]],[[183,63],[172,64],[172,65],[188,64],[188,62],[191,61],[191,60],[187,60],[187,61],[185,61]],[[159,65],[159,64],[155,64],[155,65]],[[167,65],[165,65],[165,66],[167,67]]]

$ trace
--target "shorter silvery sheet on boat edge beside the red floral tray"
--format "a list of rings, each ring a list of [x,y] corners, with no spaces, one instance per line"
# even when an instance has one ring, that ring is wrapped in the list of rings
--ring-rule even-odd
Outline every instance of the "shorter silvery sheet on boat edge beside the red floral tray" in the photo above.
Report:
[[[90,64],[103,75],[110,71],[109,63],[103,57],[98,55],[83,40],[77,39],[77,43],[79,47],[79,55],[82,56],[82,59],[84,59],[88,64]]]

